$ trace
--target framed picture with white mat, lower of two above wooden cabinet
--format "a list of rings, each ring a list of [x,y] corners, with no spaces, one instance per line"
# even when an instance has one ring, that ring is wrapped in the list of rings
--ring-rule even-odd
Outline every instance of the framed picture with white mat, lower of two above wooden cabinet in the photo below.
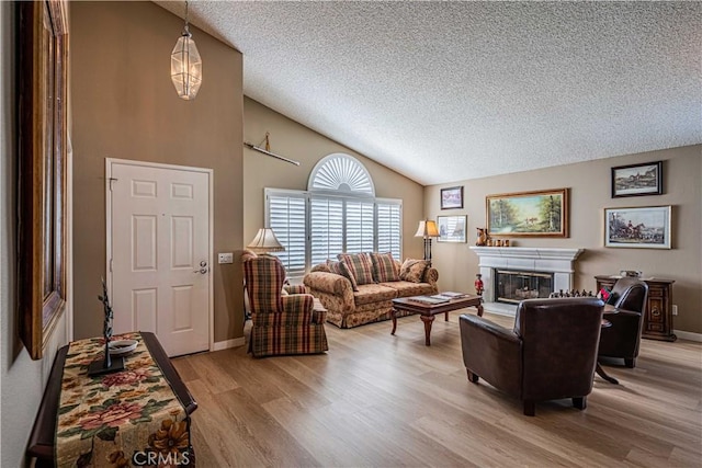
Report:
[[[670,206],[604,208],[604,247],[670,249]]]

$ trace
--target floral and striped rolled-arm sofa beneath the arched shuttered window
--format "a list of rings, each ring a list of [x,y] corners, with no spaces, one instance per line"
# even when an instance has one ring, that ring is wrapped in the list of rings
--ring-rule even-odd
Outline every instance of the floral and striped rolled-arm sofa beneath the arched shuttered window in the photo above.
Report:
[[[437,294],[439,272],[424,260],[395,261],[389,253],[339,254],[303,279],[327,308],[327,321],[352,328],[390,318],[393,299]],[[407,312],[398,312],[398,317]]]

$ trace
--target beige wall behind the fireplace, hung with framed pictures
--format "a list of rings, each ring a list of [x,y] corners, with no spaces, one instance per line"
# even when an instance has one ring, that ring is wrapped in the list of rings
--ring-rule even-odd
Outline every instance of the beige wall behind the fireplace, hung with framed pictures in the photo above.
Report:
[[[664,194],[611,198],[610,169],[615,165],[664,161]],[[645,276],[675,279],[677,330],[702,333],[702,146],[673,148],[561,165],[536,171],[468,180],[426,189],[430,217],[467,215],[468,243],[439,243],[432,251],[442,289],[473,292],[478,259],[468,249],[477,227],[485,227],[485,196],[489,194],[570,189],[570,237],[512,238],[517,246],[582,248],[576,263],[576,287],[595,289],[595,275],[639,270]],[[440,210],[440,189],[464,185],[464,209]],[[603,247],[603,208],[672,206],[672,249],[612,249]]]

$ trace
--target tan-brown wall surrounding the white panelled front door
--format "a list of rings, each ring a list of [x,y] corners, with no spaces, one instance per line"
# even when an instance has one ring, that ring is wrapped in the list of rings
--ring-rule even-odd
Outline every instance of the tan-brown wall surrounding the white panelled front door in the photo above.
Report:
[[[241,54],[191,27],[203,84],[194,101],[183,101],[170,80],[182,28],[181,19],[151,2],[71,2],[77,339],[101,332],[105,158],[212,168],[214,253],[244,242]],[[241,336],[244,298],[233,287],[241,273],[216,263],[213,272],[214,340]]]

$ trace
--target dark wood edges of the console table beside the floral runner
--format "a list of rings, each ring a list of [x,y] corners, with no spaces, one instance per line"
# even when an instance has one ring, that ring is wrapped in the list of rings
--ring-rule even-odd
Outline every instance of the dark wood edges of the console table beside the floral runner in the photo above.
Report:
[[[191,414],[197,409],[197,402],[193,399],[192,395],[190,395],[188,387],[185,387],[185,384],[178,375],[178,370],[173,367],[173,364],[158,342],[158,339],[154,333],[141,332],[140,334],[151,357],[158,364],[163,377],[170,384],[173,393],[176,393],[182,403],[185,412]],[[54,466],[57,411],[68,347],[69,345],[67,344],[56,353],[39,410],[34,421],[34,427],[30,435],[26,455],[36,458],[35,466],[37,467]],[[194,466],[194,457],[191,459],[191,466]]]

